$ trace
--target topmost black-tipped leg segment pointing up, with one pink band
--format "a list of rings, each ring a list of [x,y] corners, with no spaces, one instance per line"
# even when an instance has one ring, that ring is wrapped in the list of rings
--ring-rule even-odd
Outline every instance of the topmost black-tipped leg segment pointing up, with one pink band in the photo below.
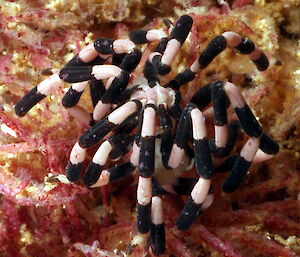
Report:
[[[156,52],[152,55],[151,62],[156,67],[158,74],[166,75],[171,71],[171,64],[186,40],[193,25],[193,19],[189,15],[182,15],[176,22],[169,37],[167,47],[163,54]]]

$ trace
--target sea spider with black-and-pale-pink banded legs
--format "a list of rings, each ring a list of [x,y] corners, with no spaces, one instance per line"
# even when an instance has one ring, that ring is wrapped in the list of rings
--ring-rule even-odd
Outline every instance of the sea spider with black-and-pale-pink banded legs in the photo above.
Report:
[[[202,87],[181,109],[180,86],[193,80],[197,72],[208,66],[226,46],[248,55],[258,70],[268,68],[266,55],[250,39],[235,32],[224,32],[211,40],[190,68],[166,85],[160,85],[158,75],[170,72],[192,23],[191,16],[181,16],[169,37],[162,30],[137,30],[130,33],[129,39],[97,39],[59,73],[32,89],[15,107],[16,113],[23,116],[62,81],[73,83],[62,103],[71,115],[91,127],[71,151],[67,178],[72,182],[80,179],[87,149],[99,142],[100,147],[84,173],[85,185],[103,186],[137,169],[137,229],[142,234],[150,231],[151,249],[156,255],[165,250],[161,200],[164,193],[190,195],[177,220],[177,228],[186,230],[200,211],[212,203],[211,178],[214,172],[231,170],[223,190],[233,192],[253,161],[269,159],[279,150],[278,145],[263,133],[242,94],[230,82],[217,81]],[[159,43],[144,66],[147,81],[127,88],[130,73],[142,56],[136,45],[152,41]],[[105,87],[102,79],[107,79]],[[90,81],[94,105],[92,116],[77,106],[86,81]],[[204,109],[210,102],[214,110],[214,139],[208,139],[205,123]],[[239,121],[228,124],[230,104]],[[248,141],[240,154],[228,157],[240,127],[249,137]],[[158,150],[157,145],[160,146]],[[128,152],[131,152],[130,160],[104,168],[108,159],[119,160]],[[191,159],[195,159],[199,178],[181,178]]]

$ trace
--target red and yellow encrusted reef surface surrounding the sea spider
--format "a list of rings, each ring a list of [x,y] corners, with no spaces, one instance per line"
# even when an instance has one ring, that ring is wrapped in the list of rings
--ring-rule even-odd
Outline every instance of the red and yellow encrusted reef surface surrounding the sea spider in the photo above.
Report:
[[[253,167],[234,194],[220,192],[224,176],[217,175],[213,206],[185,233],[174,229],[184,199],[166,196],[165,256],[300,254],[300,1],[222,3],[2,1],[0,256],[147,254],[146,239],[134,227],[134,176],[93,190],[57,179],[60,175],[63,180],[70,149],[85,129],[60,105],[65,89],[54,92],[22,119],[13,106],[46,78],[42,70],[61,68],[93,39],[126,37],[128,31],[144,26],[163,27],[162,18],[176,20],[184,13],[195,14],[194,26],[168,78],[191,64],[209,40],[223,31],[250,37],[270,59],[266,72],[257,72],[246,57],[227,49],[182,89],[184,100],[207,83],[234,81],[264,130],[280,143],[281,152]],[[91,108],[88,92],[80,104]]]

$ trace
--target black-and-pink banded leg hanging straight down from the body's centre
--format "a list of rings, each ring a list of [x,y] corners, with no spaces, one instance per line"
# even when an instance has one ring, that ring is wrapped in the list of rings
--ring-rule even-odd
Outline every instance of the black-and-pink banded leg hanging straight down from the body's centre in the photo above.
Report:
[[[149,102],[149,101],[148,101]],[[151,101],[150,101],[151,102]],[[142,234],[151,229],[152,174],[155,164],[156,106],[147,103],[144,108],[138,160],[137,228]]]

